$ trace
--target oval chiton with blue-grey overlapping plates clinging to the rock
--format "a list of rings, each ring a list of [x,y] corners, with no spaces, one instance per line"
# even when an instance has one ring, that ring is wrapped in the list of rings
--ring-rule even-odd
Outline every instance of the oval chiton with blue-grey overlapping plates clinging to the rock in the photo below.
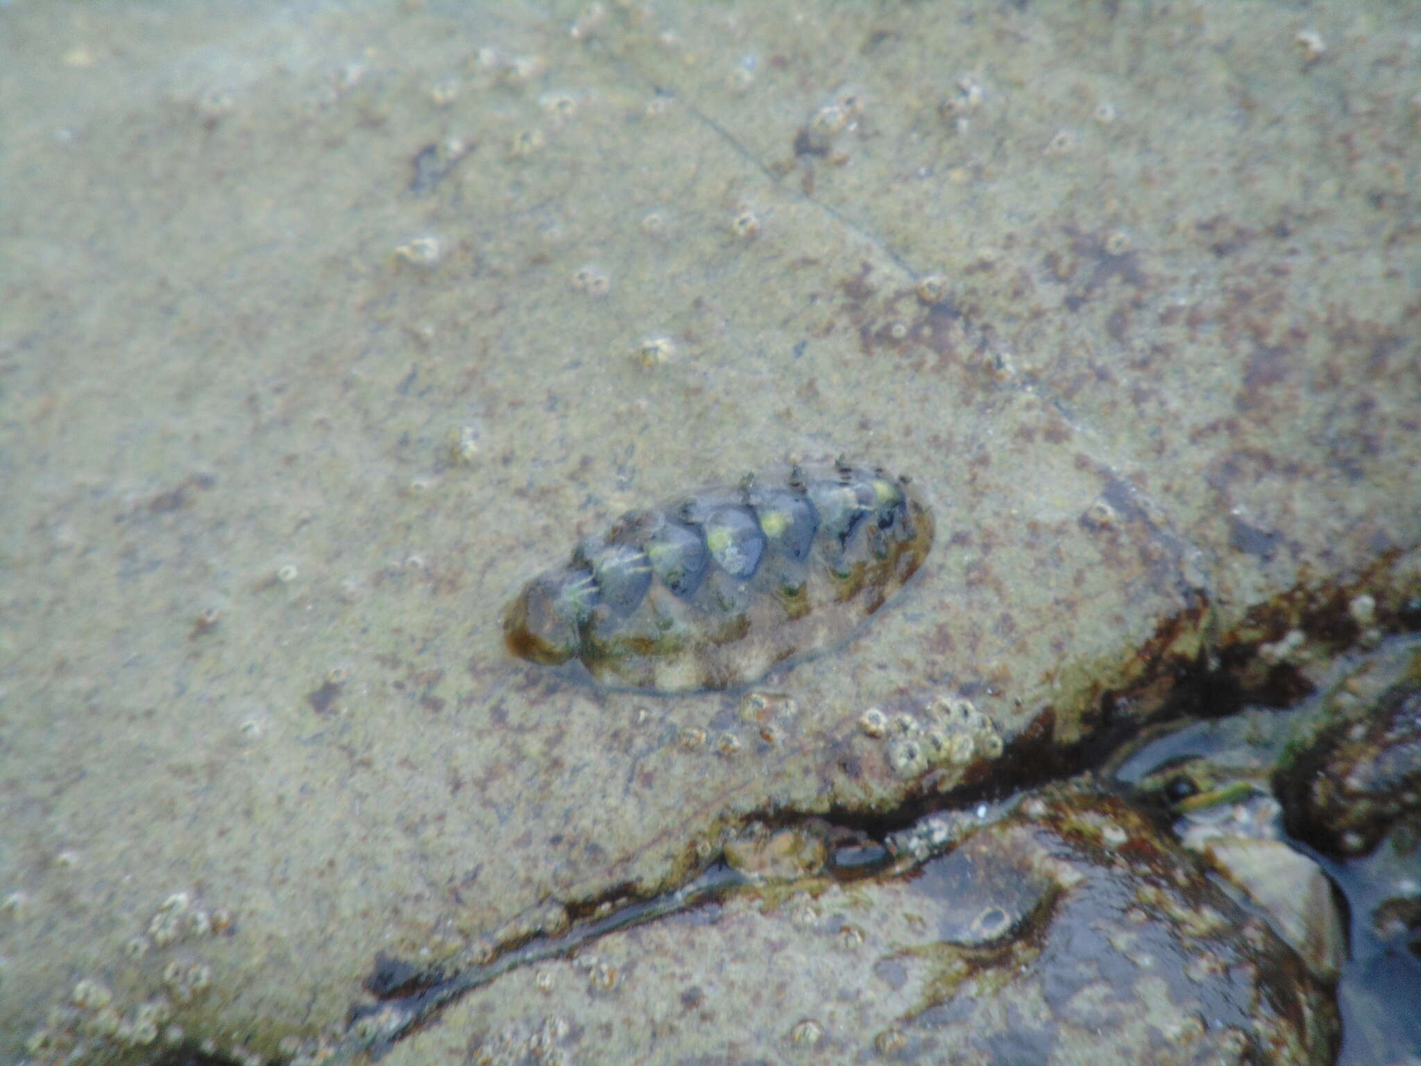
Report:
[[[907,478],[793,466],[628,512],[529,581],[503,628],[514,655],[603,685],[735,688],[845,641],[931,547]]]

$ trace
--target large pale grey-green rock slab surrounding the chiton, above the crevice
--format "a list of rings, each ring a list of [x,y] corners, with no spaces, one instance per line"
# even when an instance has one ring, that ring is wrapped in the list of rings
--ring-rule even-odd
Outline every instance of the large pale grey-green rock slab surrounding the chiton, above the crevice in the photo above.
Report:
[[[1415,625],[1418,18],[0,7],[0,1059],[288,1055],[377,957]],[[504,654],[571,540],[840,452],[938,520],[840,652]],[[891,760],[912,694],[998,743]]]

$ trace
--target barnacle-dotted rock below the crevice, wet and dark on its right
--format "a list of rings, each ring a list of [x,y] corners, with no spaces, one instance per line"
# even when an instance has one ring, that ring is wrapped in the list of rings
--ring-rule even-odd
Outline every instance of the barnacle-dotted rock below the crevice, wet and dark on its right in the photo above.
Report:
[[[949,843],[509,972],[387,1062],[1331,1062],[1322,982],[1118,796],[1069,783],[912,839]]]

